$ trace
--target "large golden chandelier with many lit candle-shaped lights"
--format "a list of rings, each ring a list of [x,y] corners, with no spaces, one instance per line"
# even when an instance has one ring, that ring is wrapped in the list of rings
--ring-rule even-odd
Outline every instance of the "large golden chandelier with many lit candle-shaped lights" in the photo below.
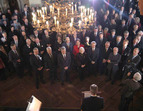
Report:
[[[60,32],[71,34],[88,29],[94,23],[94,10],[78,6],[73,2],[52,2],[45,1],[48,7],[41,7],[37,13],[32,13],[33,27],[38,30],[47,29],[49,32]],[[49,13],[47,13],[49,10]]]

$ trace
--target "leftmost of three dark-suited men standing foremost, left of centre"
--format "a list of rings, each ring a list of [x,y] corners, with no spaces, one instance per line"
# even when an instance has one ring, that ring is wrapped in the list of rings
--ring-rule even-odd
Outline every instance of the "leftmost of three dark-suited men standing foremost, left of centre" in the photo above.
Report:
[[[39,76],[40,81],[45,84],[45,81],[43,79],[43,63],[42,63],[42,57],[39,55],[39,50],[37,47],[33,49],[33,54],[30,57],[30,64],[32,66],[32,69],[34,71],[35,76],[35,82],[36,82],[36,88],[39,89]]]

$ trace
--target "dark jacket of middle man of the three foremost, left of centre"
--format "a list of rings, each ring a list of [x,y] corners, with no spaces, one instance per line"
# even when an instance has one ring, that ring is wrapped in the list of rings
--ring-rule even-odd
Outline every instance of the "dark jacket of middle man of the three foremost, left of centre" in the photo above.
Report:
[[[44,55],[44,67],[45,69],[54,69],[57,65],[57,57],[56,54],[53,52],[52,57],[48,53]]]

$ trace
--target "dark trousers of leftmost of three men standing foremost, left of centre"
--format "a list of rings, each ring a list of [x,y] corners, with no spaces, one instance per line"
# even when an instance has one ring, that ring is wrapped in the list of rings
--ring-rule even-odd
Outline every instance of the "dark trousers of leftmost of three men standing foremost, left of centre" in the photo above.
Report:
[[[43,79],[43,70],[36,70],[35,71],[35,83],[36,83],[36,88],[39,88],[39,83],[44,82]]]

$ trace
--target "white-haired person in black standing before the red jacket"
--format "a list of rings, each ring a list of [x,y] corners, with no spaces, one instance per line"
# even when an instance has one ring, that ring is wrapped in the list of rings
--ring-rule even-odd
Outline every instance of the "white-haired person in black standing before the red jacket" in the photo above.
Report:
[[[85,77],[87,66],[87,55],[85,54],[85,49],[83,47],[79,48],[79,53],[76,55],[76,60],[79,71],[79,77],[82,81]]]

